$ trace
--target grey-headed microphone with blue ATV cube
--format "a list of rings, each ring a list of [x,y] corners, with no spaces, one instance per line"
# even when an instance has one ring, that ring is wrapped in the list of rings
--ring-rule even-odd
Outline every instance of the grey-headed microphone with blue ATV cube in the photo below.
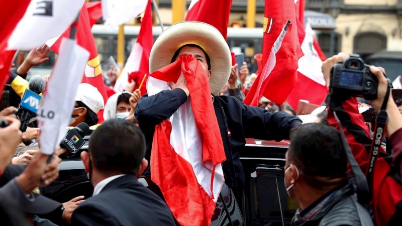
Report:
[[[29,80],[29,89],[26,89],[21,99],[18,116],[21,121],[20,130],[25,132],[33,116],[36,116],[42,97],[39,95],[45,90],[46,80],[40,75],[34,75]]]

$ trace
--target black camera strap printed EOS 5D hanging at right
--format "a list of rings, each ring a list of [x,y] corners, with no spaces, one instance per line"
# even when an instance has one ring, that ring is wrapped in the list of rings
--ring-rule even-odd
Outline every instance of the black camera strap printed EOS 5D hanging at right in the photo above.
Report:
[[[386,124],[388,123],[388,114],[386,113],[385,109],[386,109],[386,104],[388,103],[388,97],[389,97],[390,90],[391,89],[388,85],[388,89],[386,91],[384,101],[382,102],[382,105],[381,105],[381,110],[378,113],[377,118],[375,119],[374,135],[373,135],[373,139],[371,142],[371,149],[370,149],[370,159],[369,159],[370,162],[368,164],[368,168],[367,168],[367,172],[366,172],[368,184],[370,185],[370,187],[372,184],[375,160],[378,157],[378,152],[380,150],[382,139],[383,139],[384,133],[385,133],[385,127],[386,127]]]

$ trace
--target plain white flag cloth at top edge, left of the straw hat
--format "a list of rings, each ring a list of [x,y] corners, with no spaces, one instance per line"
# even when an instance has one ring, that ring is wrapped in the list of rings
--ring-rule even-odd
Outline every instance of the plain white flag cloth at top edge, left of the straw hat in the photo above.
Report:
[[[148,0],[102,0],[105,25],[117,27],[145,11]]]

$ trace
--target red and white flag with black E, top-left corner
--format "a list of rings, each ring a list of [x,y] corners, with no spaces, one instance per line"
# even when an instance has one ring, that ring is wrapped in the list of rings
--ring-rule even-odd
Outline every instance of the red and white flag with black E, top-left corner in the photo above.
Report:
[[[83,0],[3,1],[0,9],[0,92],[10,76],[15,50],[31,50],[60,35],[76,18]],[[46,25],[46,26],[45,26]]]

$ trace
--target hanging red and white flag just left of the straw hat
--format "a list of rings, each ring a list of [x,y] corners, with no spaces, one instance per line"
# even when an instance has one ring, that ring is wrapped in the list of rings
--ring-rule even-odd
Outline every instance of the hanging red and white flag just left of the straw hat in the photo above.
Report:
[[[142,19],[141,29],[140,33],[138,34],[137,41],[133,45],[126,65],[116,81],[114,87],[116,92],[122,92],[126,89],[130,74],[135,75],[132,76],[135,82],[134,90],[138,89],[144,76],[149,75],[149,55],[151,54],[153,45],[151,4],[152,0],[149,0],[144,17]],[[141,95],[147,93],[145,85],[141,87],[140,91]]]

